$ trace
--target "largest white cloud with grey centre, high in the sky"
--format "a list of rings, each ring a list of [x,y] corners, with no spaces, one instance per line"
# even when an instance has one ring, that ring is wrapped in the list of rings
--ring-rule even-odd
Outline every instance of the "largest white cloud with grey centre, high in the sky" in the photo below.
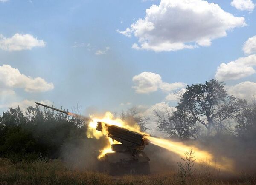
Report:
[[[241,26],[246,26],[244,17],[235,17],[215,3],[161,0],[160,5],[146,10],[144,19],[118,32],[138,38],[138,43],[132,46],[134,49],[175,51],[196,45],[210,46],[213,39]]]

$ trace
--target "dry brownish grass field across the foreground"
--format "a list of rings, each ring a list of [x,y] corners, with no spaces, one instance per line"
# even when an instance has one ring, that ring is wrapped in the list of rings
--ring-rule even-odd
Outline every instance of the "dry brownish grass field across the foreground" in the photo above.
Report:
[[[109,176],[87,170],[68,168],[60,160],[19,162],[13,164],[9,159],[0,158],[0,185],[223,185],[255,184],[256,179],[247,176],[237,179],[213,179],[192,176],[181,181],[176,171],[149,176]]]

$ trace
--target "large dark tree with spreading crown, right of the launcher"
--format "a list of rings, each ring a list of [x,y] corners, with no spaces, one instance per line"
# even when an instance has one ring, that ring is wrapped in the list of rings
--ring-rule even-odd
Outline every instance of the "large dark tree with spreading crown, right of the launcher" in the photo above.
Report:
[[[187,86],[176,108],[180,117],[189,120],[188,124],[196,120],[203,125],[209,136],[213,131],[221,134],[224,121],[233,119],[245,104],[245,100],[228,96],[223,82],[212,79],[205,84]]]

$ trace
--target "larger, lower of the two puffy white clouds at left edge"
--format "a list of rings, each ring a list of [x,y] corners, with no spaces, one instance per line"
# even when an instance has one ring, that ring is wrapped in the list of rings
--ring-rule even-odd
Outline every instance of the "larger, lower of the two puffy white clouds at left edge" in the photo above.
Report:
[[[0,88],[24,88],[26,92],[44,92],[54,88],[53,83],[47,83],[41,77],[29,77],[21,74],[17,68],[10,65],[0,66]]]

